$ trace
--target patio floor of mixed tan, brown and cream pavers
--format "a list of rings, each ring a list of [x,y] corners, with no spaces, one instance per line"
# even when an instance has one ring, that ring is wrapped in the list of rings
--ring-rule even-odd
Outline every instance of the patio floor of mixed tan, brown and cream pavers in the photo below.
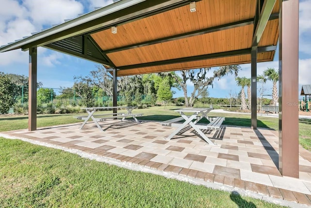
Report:
[[[299,179],[283,177],[278,166],[278,132],[224,127],[205,131],[217,144],[207,144],[192,129],[174,131],[158,122],[128,121],[57,126],[37,131],[2,132],[67,149],[115,159],[139,167],[214,183],[250,193],[311,205],[311,152],[299,147]]]

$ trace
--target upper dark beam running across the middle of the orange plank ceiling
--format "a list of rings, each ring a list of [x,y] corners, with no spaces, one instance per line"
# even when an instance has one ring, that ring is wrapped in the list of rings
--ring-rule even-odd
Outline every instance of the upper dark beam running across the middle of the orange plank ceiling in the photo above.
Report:
[[[245,25],[253,24],[253,23],[254,23],[254,19],[245,19],[242,21],[232,22],[232,23],[219,25],[219,26],[215,26],[215,27],[210,27],[210,28],[206,28],[206,29],[202,29],[202,30],[191,31],[188,33],[178,34],[175,36],[159,38],[159,39],[150,40],[150,41],[146,41],[146,42],[122,46],[119,48],[108,49],[108,50],[104,50],[103,53],[109,54],[109,53],[114,53],[114,52],[118,52],[118,51],[123,51],[123,50],[128,50],[128,49],[133,49],[133,48],[139,48],[139,47],[143,47],[143,46],[149,46],[149,45],[153,45],[153,44],[157,44],[157,43],[168,42],[168,41],[177,40],[177,39],[181,39],[181,38],[190,38],[193,36],[203,35],[203,34],[207,34],[207,33],[213,33],[213,32],[217,32],[217,31],[228,30],[228,29],[232,29],[232,28],[236,28],[236,27],[242,27]]]

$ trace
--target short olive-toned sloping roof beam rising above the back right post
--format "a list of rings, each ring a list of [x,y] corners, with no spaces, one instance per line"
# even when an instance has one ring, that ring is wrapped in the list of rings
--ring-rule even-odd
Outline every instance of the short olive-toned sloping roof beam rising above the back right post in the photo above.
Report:
[[[261,39],[264,29],[267,26],[268,20],[272,14],[273,7],[276,3],[276,0],[265,0],[262,5],[262,9],[260,11],[260,16],[258,19],[258,24],[256,26],[256,30],[254,33],[252,47],[257,47],[258,43]],[[258,5],[258,8],[261,7]]]

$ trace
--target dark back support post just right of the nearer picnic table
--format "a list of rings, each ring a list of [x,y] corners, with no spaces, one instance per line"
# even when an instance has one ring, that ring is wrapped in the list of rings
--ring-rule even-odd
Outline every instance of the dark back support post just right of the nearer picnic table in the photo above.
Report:
[[[257,47],[251,51],[251,123],[257,129]]]

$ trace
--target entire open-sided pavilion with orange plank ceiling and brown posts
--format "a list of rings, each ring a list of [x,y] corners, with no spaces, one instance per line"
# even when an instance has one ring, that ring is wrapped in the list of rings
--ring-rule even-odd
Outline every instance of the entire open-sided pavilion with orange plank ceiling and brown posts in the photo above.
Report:
[[[37,47],[103,64],[117,76],[251,63],[257,129],[257,62],[279,42],[279,170],[298,177],[297,0],[120,0],[0,47],[29,51],[29,131],[36,130]],[[286,92],[286,93],[285,93]],[[282,105],[282,103],[284,103]]]

